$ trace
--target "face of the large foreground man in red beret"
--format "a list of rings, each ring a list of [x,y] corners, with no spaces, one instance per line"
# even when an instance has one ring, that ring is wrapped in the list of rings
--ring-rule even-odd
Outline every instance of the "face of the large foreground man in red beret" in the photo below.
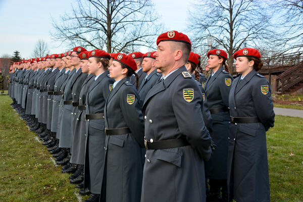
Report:
[[[175,53],[172,51],[171,41],[161,41],[158,44],[158,50],[154,53],[156,58],[156,68],[166,72],[175,62]]]

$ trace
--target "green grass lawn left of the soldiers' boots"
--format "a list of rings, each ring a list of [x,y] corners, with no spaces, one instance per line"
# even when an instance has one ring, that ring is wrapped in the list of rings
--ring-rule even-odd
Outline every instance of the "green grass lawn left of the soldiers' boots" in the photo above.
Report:
[[[0,96],[0,201],[78,201],[69,174],[54,165],[10,103]]]

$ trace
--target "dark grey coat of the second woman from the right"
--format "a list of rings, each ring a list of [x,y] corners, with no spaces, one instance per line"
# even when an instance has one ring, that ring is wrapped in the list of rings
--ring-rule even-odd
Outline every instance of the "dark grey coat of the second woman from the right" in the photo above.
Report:
[[[227,179],[228,122],[230,121],[228,96],[232,81],[233,77],[221,67],[213,76],[208,77],[204,88],[210,111],[225,108],[225,112],[211,114],[213,119],[211,137],[217,148],[210,161],[206,162],[206,175],[210,179]]]

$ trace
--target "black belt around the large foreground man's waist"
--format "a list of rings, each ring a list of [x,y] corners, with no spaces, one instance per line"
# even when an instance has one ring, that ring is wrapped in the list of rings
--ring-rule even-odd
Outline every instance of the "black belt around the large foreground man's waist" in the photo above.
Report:
[[[150,139],[149,141],[144,138],[144,145],[146,149],[165,149],[165,148],[175,148],[180,146],[188,146],[189,142],[185,139],[167,139],[161,141],[154,141]]]

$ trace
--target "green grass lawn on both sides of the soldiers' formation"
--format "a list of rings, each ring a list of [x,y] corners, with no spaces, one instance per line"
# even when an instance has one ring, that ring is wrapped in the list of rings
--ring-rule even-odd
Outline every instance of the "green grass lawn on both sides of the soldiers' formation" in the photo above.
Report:
[[[0,96],[0,201],[77,201],[69,175],[9,103],[9,96]],[[302,142],[303,119],[277,115],[267,132],[271,201],[303,201]]]

